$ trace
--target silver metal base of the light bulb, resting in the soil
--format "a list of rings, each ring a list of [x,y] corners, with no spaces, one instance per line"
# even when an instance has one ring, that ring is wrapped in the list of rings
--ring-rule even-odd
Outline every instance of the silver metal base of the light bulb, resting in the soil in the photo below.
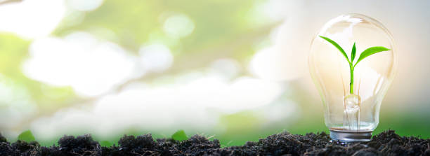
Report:
[[[366,142],[372,139],[372,131],[346,131],[330,129],[330,138],[334,141],[349,142]]]

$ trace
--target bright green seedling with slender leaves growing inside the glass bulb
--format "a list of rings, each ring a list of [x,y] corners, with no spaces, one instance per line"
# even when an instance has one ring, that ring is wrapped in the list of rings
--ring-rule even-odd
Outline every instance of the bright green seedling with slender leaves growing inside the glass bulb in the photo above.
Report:
[[[344,55],[346,61],[348,61],[349,71],[351,73],[351,81],[349,83],[349,92],[351,94],[353,94],[353,92],[354,92],[354,69],[356,68],[356,65],[358,64],[358,62],[360,62],[361,60],[365,59],[366,57],[368,57],[370,55],[376,54],[377,52],[384,52],[384,51],[390,50],[389,48],[385,48],[382,46],[367,48],[366,50],[361,52],[360,57],[358,57],[356,64],[353,64],[353,61],[356,58],[356,43],[354,43],[353,48],[351,50],[351,60],[350,60],[350,59],[348,59],[348,55],[346,55],[345,50],[342,49],[339,44],[337,44],[332,39],[327,38],[325,36],[320,36],[320,37],[325,39],[325,41],[332,43],[332,45],[334,45],[342,53],[342,55]]]

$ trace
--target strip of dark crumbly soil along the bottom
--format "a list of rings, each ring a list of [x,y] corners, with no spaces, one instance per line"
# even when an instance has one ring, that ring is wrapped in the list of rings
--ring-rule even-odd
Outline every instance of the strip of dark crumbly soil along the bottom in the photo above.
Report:
[[[304,136],[283,132],[244,146],[221,148],[218,140],[198,135],[185,141],[154,141],[145,134],[123,136],[118,146],[111,147],[100,147],[90,135],[63,136],[58,146],[42,147],[37,142],[8,143],[0,135],[0,155],[430,155],[430,141],[386,131],[370,142],[342,146],[331,143],[324,132]]]

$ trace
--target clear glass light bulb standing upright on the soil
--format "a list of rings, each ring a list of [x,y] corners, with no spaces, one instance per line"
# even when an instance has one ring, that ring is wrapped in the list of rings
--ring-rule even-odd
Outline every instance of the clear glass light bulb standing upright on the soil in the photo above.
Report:
[[[370,141],[396,60],[388,29],[365,15],[335,17],[313,38],[309,70],[333,140]]]

